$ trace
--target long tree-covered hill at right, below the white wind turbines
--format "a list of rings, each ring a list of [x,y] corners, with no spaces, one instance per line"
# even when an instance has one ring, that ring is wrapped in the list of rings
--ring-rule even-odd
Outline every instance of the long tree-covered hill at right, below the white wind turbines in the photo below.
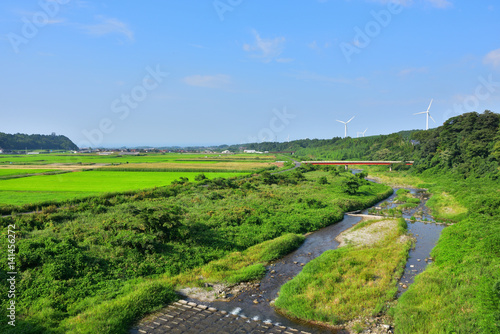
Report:
[[[500,115],[486,110],[448,119],[426,131],[402,131],[364,138],[304,139],[256,143],[247,149],[295,151],[298,159],[414,160],[414,168],[452,170],[466,177],[497,173],[500,160]]]

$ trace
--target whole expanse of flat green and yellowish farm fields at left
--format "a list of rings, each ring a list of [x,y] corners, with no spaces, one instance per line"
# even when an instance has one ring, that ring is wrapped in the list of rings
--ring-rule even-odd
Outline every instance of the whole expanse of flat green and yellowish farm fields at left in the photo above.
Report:
[[[200,173],[208,179],[233,177],[276,168],[273,165],[276,159],[261,154],[0,155],[0,205],[62,201],[106,192],[161,187],[181,177],[194,181]],[[45,169],[48,167],[53,169]],[[21,174],[89,168],[94,170],[12,178]]]

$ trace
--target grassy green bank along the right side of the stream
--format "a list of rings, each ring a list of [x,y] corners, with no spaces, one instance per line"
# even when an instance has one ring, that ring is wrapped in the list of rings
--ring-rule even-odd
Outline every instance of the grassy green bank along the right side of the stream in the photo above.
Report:
[[[407,172],[375,172],[400,182]],[[411,180],[411,179],[410,179]],[[443,230],[431,256],[394,314],[398,333],[500,332],[500,182],[428,171],[413,185],[433,194],[427,202]]]

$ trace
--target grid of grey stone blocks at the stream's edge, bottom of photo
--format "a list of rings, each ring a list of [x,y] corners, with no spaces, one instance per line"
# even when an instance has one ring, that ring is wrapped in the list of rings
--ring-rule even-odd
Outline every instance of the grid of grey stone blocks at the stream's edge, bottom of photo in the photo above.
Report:
[[[172,303],[141,320],[130,334],[310,334],[290,327],[237,316],[185,300]]]

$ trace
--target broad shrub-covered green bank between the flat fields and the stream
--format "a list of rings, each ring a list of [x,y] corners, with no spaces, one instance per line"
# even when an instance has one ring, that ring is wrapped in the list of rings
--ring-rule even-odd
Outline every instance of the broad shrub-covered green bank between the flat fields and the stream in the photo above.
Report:
[[[246,249],[267,240],[333,224],[343,212],[392,193],[384,185],[356,180],[359,188],[348,195],[343,185],[353,178],[299,170],[239,180],[181,181],[89,198],[55,212],[2,218],[4,236],[9,224],[16,225],[18,322],[14,329],[2,323],[0,331],[123,332],[124,322],[169,300],[169,284],[196,284],[196,270],[203,270],[206,279],[232,282],[258,277],[269,259],[253,258],[257,252],[240,257],[238,252],[245,255]],[[5,249],[7,238],[1,243]],[[226,256],[228,262],[221,260]],[[4,263],[3,319],[7,271]],[[166,287],[164,301],[149,302],[146,292],[157,289],[156,284]],[[143,306],[133,306],[143,299]],[[94,322],[98,325],[87,327]]]

